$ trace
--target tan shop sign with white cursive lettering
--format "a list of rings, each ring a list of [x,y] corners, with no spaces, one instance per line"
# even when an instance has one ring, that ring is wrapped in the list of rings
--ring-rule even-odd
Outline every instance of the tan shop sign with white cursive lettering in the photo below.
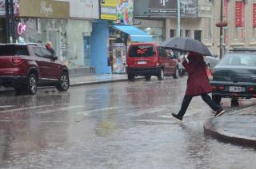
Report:
[[[20,16],[32,18],[69,18],[69,2],[53,0],[22,0]]]

